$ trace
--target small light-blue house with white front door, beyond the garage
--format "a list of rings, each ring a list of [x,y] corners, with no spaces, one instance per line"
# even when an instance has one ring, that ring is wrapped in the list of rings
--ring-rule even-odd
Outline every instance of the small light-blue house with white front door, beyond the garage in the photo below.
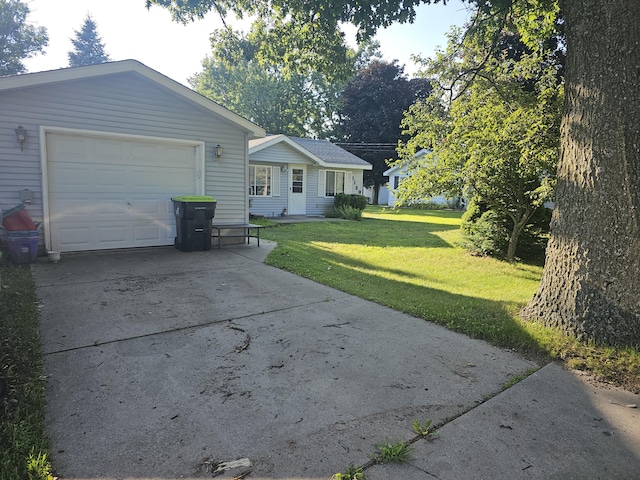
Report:
[[[338,193],[362,195],[370,163],[326,140],[272,135],[249,142],[253,215],[318,216]]]

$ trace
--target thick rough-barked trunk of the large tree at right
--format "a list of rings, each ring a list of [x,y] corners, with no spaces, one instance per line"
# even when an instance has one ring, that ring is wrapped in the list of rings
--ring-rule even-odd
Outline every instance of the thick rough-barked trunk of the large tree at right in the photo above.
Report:
[[[556,209],[524,315],[583,339],[640,345],[640,1],[565,0],[567,66]]]

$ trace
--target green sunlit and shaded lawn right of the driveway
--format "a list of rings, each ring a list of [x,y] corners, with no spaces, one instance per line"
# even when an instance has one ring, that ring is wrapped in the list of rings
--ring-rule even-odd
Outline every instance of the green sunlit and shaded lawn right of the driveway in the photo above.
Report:
[[[360,222],[263,230],[267,263],[536,359],[563,359],[640,390],[640,353],[584,345],[518,314],[542,267],[469,254],[459,212],[367,207]]]

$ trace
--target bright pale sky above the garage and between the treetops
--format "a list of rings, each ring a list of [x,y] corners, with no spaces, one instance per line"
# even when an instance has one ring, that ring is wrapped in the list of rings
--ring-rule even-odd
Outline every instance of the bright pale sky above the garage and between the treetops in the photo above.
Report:
[[[201,70],[202,60],[211,51],[209,34],[222,25],[217,15],[210,13],[184,26],[171,21],[162,8],[147,10],[145,0],[28,0],[28,4],[29,21],[49,32],[45,55],[25,62],[29,72],[68,66],[70,39],[90,13],[112,60],[133,58],[188,85],[187,78]],[[446,6],[422,5],[414,24],[393,25],[377,38],[385,60],[397,59],[411,75],[416,67],[410,55],[431,56],[436,46],[445,46],[450,27],[462,25],[467,18],[460,0],[449,0]],[[247,21],[231,23],[245,30],[249,25]]]

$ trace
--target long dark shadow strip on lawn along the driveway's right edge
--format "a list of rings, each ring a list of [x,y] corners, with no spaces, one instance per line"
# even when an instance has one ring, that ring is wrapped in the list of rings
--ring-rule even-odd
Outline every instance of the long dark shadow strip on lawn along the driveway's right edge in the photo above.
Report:
[[[305,257],[323,258],[322,262]],[[274,250],[267,263],[346,293],[522,353],[543,352],[514,313],[522,306],[451,293],[411,282],[424,280],[395,268],[375,268],[407,281],[376,275],[373,266],[310,244],[289,243]],[[329,265],[330,268],[327,266]],[[375,292],[372,294],[372,292]]]

